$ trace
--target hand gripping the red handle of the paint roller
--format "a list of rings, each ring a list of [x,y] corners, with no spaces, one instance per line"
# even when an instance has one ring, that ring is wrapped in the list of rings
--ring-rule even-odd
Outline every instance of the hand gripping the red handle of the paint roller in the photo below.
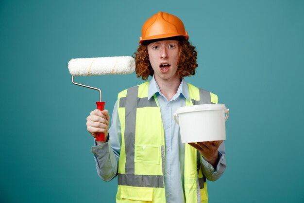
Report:
[[[100,111],[95,109],[91,111],[90,115],[86,118],[86,129],[94,138],[96,138],[97,133],[103,132],[105,141],[101,142],[104,143],[108,138],[109,123],[110,115],[108,110]]]

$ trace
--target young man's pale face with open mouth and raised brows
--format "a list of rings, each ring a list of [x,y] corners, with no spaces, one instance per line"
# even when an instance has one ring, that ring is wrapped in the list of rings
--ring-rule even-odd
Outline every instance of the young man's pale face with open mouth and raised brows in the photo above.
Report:
[[[149,60],[157,82],[180,80],[177,73],[179,47],[177,40],[162,40],[148,45]]]

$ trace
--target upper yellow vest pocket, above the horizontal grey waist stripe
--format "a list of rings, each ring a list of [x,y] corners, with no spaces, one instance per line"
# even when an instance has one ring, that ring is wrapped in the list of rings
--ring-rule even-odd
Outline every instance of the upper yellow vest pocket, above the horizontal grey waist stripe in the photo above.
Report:
[[[160,146],[135,144],[134,162],[160,164]]]

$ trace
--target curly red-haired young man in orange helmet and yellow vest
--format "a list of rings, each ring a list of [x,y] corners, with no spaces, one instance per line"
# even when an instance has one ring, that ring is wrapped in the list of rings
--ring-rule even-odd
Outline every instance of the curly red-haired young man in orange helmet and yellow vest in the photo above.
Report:
[[[178,107],[217,103],[217,95],[187,84],[194,75],[197,52],[187,41],[183,22],[159,12],[142,27],[135,53],[136,74],[150,82],[118,93],[112,125],[107,110],[87,117],[95,138],[99,176],[110,181],[118,175],[117,203],[207,203],[206,179],[215,181],[225,170],[222,141],[182,144],[173,120]]]

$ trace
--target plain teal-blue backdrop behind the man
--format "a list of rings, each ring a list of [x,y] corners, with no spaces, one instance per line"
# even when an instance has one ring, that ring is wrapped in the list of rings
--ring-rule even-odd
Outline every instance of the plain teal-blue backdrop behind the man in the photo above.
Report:
[[[115,202],[99,179],[86,117],[98,92],[68,61],[133,55],[144,21],[181,18],[197,47],[186,78],[230,109],[227,169],[210,203],[304,203],[303,0],[0,0],[0,202]],[[112,112],[135,74],[77,77]]]

